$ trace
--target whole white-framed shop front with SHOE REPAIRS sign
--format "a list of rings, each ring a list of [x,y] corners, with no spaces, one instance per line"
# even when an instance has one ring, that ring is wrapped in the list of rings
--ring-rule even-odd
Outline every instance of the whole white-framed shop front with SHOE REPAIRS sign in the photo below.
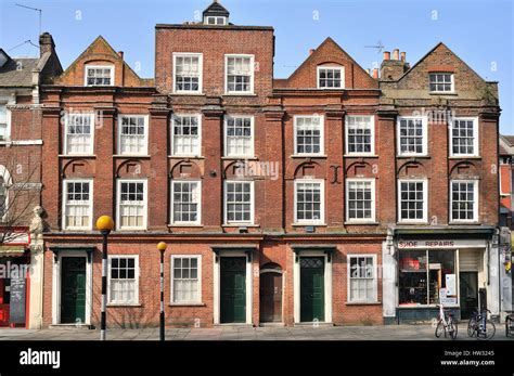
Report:
[[[385,322],[427,322],[437,317],[438,304],[463,320],[480,304],[498,314],[492,234],[390,234],[384,247]]]

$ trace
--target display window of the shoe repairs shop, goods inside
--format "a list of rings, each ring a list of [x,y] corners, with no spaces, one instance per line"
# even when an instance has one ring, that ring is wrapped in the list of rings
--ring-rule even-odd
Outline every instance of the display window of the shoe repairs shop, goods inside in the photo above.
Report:
[[[454,250],[400,250],[399,304],[457,304]]]

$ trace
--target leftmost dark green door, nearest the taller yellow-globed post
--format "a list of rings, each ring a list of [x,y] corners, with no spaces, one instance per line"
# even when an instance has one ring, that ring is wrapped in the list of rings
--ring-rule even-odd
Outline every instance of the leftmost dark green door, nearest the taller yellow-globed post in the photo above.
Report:
[[[61,259],[61,323],[86,321],[86,258]]]

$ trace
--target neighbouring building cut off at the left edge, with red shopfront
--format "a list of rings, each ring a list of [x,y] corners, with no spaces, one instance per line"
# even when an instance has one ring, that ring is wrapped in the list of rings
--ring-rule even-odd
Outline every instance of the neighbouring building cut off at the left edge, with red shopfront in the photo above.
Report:
[[[40,85],[62,73],[52,37],[39,57],[0,49],[0,326],[41,327]]]

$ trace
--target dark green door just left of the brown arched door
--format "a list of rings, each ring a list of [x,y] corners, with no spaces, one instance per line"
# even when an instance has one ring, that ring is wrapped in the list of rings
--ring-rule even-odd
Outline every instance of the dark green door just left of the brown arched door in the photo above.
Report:
[[[246,322],[246,258],[222,257],[220,264],[220,322]]]

